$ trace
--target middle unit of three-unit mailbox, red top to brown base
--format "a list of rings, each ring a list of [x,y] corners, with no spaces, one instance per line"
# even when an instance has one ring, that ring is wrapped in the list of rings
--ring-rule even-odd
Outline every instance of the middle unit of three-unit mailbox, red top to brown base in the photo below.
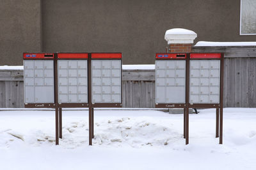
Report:
[[[58,106],[88,107],[88,53],[58,53]]]

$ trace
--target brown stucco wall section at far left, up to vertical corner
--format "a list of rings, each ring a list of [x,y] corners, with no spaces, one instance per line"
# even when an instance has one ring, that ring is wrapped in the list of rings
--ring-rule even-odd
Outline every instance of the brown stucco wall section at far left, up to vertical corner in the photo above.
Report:
[[[0,0],[0,65],[22,65],[23,52],[42,50],[40,0]]]

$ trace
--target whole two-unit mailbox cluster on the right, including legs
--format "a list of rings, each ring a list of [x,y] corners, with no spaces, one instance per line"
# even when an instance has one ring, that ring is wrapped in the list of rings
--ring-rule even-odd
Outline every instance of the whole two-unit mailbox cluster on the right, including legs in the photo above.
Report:
[[[184,109],[189,142],[189,108],[216,108],[216,138],[222,144],[223,53],[156,53],[156,108]],[[219,131],[220,129],[220,131]]]

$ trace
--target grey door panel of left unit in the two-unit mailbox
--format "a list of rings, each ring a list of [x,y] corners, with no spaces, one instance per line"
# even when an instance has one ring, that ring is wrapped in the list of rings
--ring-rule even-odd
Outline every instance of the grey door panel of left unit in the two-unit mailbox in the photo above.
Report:
[[[156,103],[186,103],[186,60],[156,60]]]

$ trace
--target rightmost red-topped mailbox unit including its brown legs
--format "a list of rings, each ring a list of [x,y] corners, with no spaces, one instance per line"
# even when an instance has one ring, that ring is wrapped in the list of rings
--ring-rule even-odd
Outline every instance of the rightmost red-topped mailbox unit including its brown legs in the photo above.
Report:
[[[190,53],[187,87],[189,108],[216,108],[216,138],[220,131],[220,144],[223,143],[223,62],[223,53]],[[189,143],[188,127],[187,115],[186,144]]]

